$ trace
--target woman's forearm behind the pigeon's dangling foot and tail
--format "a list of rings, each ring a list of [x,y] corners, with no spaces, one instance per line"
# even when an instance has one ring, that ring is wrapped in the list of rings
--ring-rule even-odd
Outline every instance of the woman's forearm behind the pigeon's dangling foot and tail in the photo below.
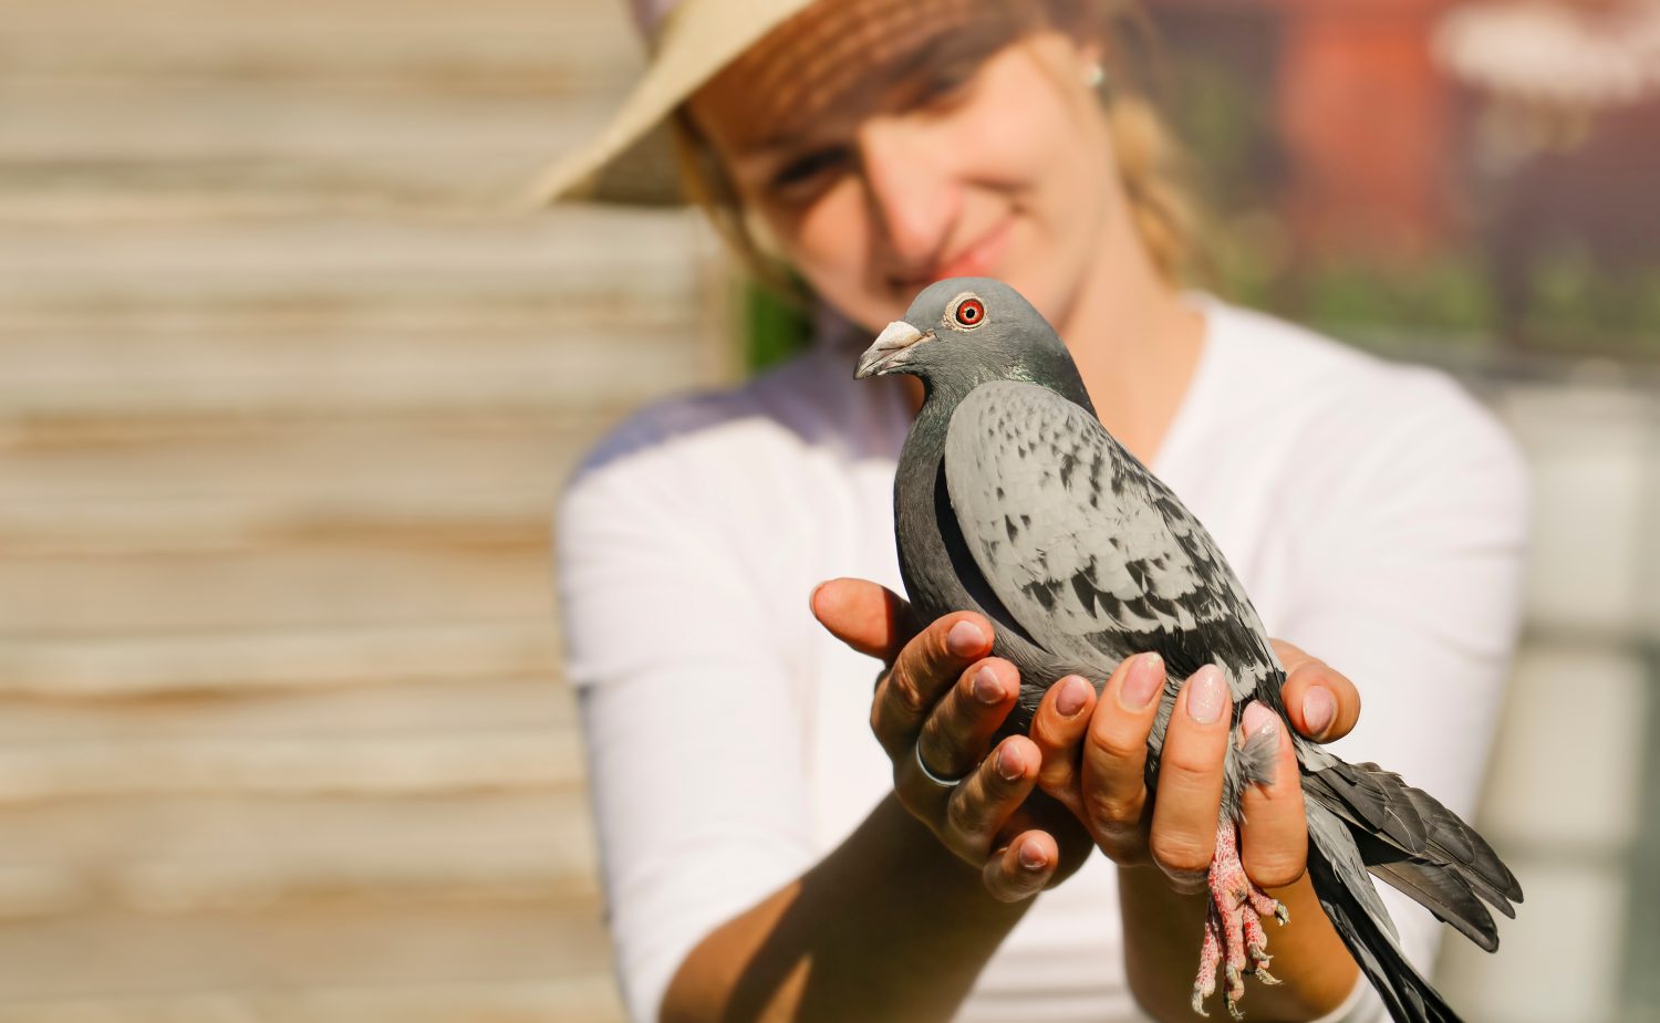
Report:
[[[1358,968],[1305,874],[1268,892],[1290,910],[1285,927],[1268,927],[1272,972],[1280,987],[1247,978],[1247,1013],[1257,1023],[1316,1020],[1355,988]],[[1192,1020],[1194,975],[1205,933],[1208,897],[1170,889],[1157,867],[1119,867],[1124,958],[1130,991],[1155,1020]],[[1225,983],[1218,977],[1218,990]]]

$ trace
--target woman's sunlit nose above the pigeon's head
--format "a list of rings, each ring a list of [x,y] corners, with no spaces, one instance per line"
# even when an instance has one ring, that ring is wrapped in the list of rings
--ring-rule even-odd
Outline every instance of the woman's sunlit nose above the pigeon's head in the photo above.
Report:
[[[928,133],[903,118],[872,118],[860,129],[860,161],[870,214],[893,269],[926,270],[943,252],[961,187]]]

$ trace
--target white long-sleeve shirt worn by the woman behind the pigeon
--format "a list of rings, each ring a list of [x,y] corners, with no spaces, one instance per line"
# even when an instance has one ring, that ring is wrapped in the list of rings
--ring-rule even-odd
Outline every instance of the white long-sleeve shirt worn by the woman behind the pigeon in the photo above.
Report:
[[[1467,817],[1517,627],[1512,443],[1441,373],[1194,300],[1205,343],[1150,468],[1268,632],[1358,685],[1360,725],[1333,749]],[[559,509],[569,678],[634,1020],[657,1018],[702,937],[802,875],[891,788],[868,728],[878,665],[807,608],[837,575],[901,589],[891,487],[910,418],[893,380],[852,380],[855,356],[822,343],[639,413]],[[1439,925],[1384,899],[1428,970]],[[959,1020],[1140,1020],[1122,943],[1114,865],[1092,856],[1038,897]],[[1383,1010],[1358,993],[1345,1013]]]

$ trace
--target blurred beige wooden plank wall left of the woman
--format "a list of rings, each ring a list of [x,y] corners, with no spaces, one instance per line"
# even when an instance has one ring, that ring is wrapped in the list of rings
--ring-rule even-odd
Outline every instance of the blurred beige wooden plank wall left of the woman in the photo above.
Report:
[[[578,453],[729,371],[686,214],[506,209],[586,0],[7,0],[0,1021],[614,1020]]]

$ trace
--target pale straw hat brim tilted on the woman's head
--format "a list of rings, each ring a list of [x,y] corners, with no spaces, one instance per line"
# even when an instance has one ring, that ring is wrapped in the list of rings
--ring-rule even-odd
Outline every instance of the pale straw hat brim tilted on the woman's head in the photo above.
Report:
[[[611,123],[554,162],[531,201],[682,202],[669,114],[720,68],[812,0],[632,0],[646,73]]]

